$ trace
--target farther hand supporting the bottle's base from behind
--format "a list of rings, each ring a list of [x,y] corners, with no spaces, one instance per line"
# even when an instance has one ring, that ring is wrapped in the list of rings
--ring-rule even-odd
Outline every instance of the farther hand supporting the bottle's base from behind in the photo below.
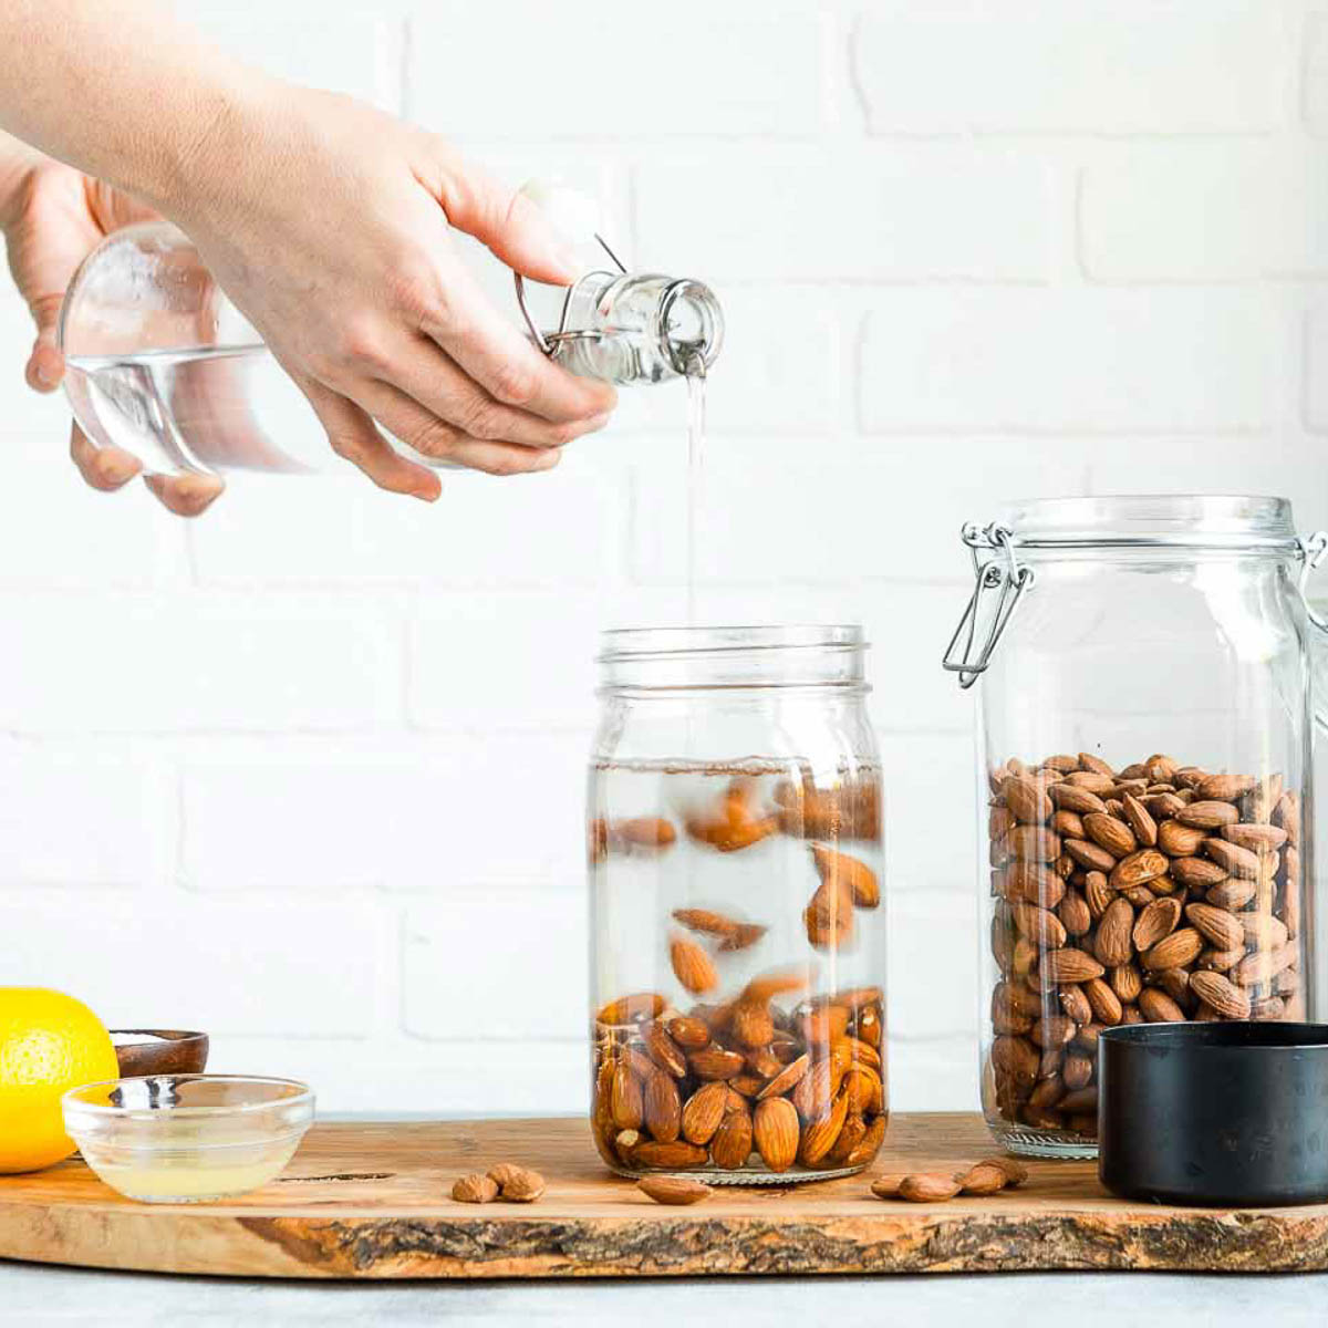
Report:
[[[37,325],[27,365],[29,386],[54,392],[64,378],[56,324],[78,264],[110,231],[154,215],[129,195],[0,134],[0,228],[9,271]],[[102,491],[122,487],[142,470],[120,448],[93,446],[77,424],[69,454],[84,479]],[[146,483],[181,517],[197,517],[223,489],[211,475],[150,475]]]

